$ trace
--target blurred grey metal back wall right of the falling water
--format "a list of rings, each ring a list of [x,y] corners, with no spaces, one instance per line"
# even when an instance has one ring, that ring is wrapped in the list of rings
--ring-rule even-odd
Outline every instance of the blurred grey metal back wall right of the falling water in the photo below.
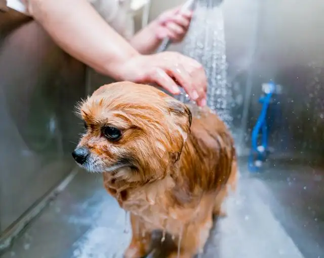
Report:
[[[183,2],[153,1],[150,20]],[[249,151],[251,130],[261,110],[261,84],[273,80],[283,89],[269,113],[270,145],[280,157],[320,160],[324,154],[324,2],[223,0],[222,8],[240,153]],[[170,50],[182,47],[173,45]],[[247,120],[242,120],[245,108]]]

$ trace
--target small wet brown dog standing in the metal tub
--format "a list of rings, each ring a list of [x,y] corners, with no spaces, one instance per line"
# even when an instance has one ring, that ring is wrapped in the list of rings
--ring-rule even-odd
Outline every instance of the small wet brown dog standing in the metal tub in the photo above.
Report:
[[[131,212],[132,241],[125,257],[142,257],[151,232],[175,236],[179,257],[204,248],[227,186],[235,187],[236,156],[224,123],[208,108],[189,106],[147,85],[104,85],[79,107],[86,133],[73,151]],[[170,257],[177,257],[175,251]]]

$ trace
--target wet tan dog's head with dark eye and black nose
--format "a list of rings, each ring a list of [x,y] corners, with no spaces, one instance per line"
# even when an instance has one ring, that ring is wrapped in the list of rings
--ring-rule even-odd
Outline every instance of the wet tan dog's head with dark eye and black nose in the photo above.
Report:
[[[73,151],[90,172],[146,183],[163,178],[190,132],[191,113],[175,98],[132,82],[104,85],[78,107],[86,132]]]

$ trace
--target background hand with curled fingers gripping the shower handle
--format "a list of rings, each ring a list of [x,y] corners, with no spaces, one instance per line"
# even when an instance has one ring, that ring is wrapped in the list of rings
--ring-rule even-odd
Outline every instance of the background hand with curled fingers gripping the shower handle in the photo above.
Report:
[[[182,11],[181,7],[168,10],[153,21],[155,36],[159,40],[168,37],[173,42],[180,42],[184,38],[189,29],[192,11]]]

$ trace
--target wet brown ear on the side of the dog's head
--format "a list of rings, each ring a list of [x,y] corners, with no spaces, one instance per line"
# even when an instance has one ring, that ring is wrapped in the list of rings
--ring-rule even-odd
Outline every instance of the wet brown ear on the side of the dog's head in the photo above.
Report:
[[[170,97],[166,99],[166,102],[174,128],[170,135],[173,145],[172,157],[177,161],[180,158],[180,153],[190,133],[192,115],[189,108],[179,100]]]

